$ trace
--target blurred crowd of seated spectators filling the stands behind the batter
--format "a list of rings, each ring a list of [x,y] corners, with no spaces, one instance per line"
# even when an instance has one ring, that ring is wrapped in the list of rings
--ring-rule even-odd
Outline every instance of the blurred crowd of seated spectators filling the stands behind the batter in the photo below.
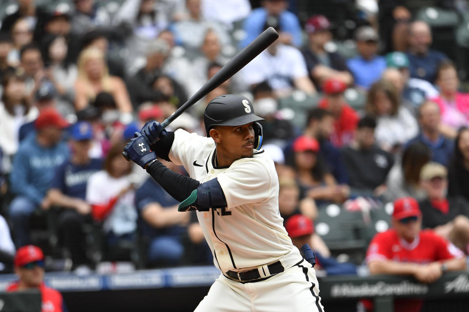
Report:
[[[205,136],[211,99],[251,98],[286,228],[327,273],[357,273],[314,231],[331,204],[414,198],[410,224],[468,254],[466,68],[431,22],[466,1],[429,1],[429,19],[413,0],[322,2],[2,0],[0,272],[29,244],[49,270],[212,263],[196,216],[121,153],[267,27],[279,39],[168,129]]]

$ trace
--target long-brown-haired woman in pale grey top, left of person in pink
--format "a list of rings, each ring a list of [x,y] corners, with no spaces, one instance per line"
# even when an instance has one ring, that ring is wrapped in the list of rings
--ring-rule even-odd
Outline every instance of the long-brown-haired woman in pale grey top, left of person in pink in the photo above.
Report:
[[[396,89],[387,81],[380,80],[371,86],[365,110],[376,117],[376,141],[385,151],[396,152],[419,131],[417,121],[401,105]]]

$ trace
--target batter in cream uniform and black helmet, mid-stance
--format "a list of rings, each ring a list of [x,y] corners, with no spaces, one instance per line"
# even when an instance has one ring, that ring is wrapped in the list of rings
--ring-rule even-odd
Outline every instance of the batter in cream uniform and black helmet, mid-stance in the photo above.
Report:
[[[152,121],[124,150],[181,202],[179,211],[197,211],[221,274],[196,312],[323,312],[313,266],[282,225],[278,177],[260,149],[259,120],[247,98],[224,95],[205,109],[207,137],[166,132]],[[157,156],[183,165],[190,177]]]

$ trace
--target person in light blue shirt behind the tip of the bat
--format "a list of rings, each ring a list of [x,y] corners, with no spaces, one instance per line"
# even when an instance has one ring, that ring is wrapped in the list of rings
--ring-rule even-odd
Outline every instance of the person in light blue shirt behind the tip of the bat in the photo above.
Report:
[[[239,47],[244,48],[265,29],[269,19],[275,18],[281,28],[279,39],[277,41],[283,44],[291,44],[296,47],[302,45],[301,26],[298,17],[290,11],[287,11],[287,0],[262,0],[262,6],[251,11],[251,14],[244,20],[243,29],[246,32],[246,38],[240,43]]]

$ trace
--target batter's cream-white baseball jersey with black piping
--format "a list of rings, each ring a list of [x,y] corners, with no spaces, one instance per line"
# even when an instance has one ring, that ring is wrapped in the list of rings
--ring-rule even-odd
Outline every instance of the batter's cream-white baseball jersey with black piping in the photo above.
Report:
[[[215,177],[227,207],[197,211],[197,218],[222,272],[275,262],[285,254],[300,261],[278,210],[278,177],[274,162],[263,150],[229,167],[213,168],[215,142],[210,137],[175,131],[169,157],[183,165],[200,183]]]

